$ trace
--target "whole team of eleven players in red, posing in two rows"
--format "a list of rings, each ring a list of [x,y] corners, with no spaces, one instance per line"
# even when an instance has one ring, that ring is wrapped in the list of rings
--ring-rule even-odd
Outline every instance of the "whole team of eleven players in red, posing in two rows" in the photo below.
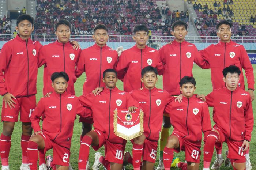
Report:
[[[4,100],[1,114],[3,132],[0,137],[2,170],[9,170],[11,134],[19,112],[22,122],[21,170],[37,169],[38,151],[39,169],[49,168],[46,166],[45,152],[51,148],[54,150],[54,160],[51,162],[48,157],[48,166],[58,170],[68,169],[71,129],[76,114],[81,115],[79,121],[83,123],[79,170],[89,168],[90,145],[95,150],[105,145],[105,157],[97,153],[93,169],[98,169],[100,163],[106,169],[122,169],[123,157],[132,163],[135,170],[140,169],[141,158],[142,169],[153,169],[160,131],[158,169],[170,169],[173,151],[180,150],[185,151],[187,163],[174,159],[172,165],[183,170],[199,169],[202,131],[206,142],[205,170],[209,169],[214,143],[217,159],[212,169],[220,168],[224,141],[228,144],[231,162],[227,161],[225,165],[231,164],[238,170],[251,169],[248,148],[253,127],[253,68],[244,47],[231,41],[232,25],[229,22],[221,21],[217,25],[217,35],[221,41],[200,52],[194,44],[185,41],[187,24],[182,21],[172,24],[171,34],[175,39],[159,51],[146,45],[148,29],[144,24],[134,28],[135,46],[124,51],[118,48],[118,52],[106,45],[108,30],[105,25],[95,26],[95,44],[84,50],[75,48],[77,42],[69,41],[70,27],[67,20],[61,19],[55,25],[57,41],[42,46],[30,39],[33,18],[20,15],[16,26],[19,34],[1,49],[0,94]],[[203,69],[211,69],[214,91],[206,97],[193,95],[196,85],[191,77],[193,62]],[[36,105],[37,68],[42,65],[43,94],[52,94]],[[242,68],[248,81],[247,92],[244,91]],[[74,83],[83,72],[87,75],[83,95],[77,98],[74,96]],[[163,75],[164,91],[155,87],[158,74]],[[124,91],[116,88],[117,78],[124,82]],[[102,92],[95,96],[91,92],[96,87],[100,87],[96,89],[96,94]],[[181,103],[172,101],[175,95],[183,97]],[[214,129],[211,129],[207,104],[214,107]],[[142,109],[144,112],[144,133],[132,140],[133,158],[129,152],[126,156],[123,154],[126,140],[113,133],[114,109],[129,109],[131,112]],[[174,114],[181,117],[172,117]],[[40,117],[44,120],[42,129],[39,126]],[[196,129],[200,129],[200,132],[193,127],[195,124],[185,121],[191,119],[199,121],[196,124],[199,128]],[[108,126],[102,124],[106,120]],[[169,136],[171,123],[174,131]],[[31,127],[34,130],[32,137]]]

